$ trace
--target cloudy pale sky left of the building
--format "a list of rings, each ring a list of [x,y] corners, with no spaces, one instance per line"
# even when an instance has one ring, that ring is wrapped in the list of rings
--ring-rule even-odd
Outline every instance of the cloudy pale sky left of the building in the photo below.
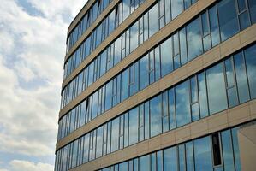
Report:
[[[68,25],[87,0],[1,0],[0,171],[53,171]]]

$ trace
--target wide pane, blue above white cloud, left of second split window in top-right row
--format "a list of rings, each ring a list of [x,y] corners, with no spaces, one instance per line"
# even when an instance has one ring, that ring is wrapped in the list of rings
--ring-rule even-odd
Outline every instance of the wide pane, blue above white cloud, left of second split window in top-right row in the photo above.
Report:
[[[191,61],[203,52],[200,26],[199,18],[188,24],[188,61]]]

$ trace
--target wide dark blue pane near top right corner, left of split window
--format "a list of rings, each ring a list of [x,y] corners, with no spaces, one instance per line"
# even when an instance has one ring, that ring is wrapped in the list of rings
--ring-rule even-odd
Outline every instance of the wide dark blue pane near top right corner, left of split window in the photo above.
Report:
[[[222,41],[238,32],[235,0],[223,0],[217,3],[219,25]],[[229,10],[227,10],[229,9]]]

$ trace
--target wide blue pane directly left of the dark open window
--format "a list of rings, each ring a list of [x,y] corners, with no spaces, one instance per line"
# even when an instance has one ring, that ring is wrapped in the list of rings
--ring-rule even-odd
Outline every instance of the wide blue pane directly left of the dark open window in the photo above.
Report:
[[[193,144],[195,170],[212,170],[210,137],[196,139]]]

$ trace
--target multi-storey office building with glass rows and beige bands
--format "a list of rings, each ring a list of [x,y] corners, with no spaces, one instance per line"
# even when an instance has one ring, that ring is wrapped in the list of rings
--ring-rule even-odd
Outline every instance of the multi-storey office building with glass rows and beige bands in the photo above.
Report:
[[[255,0],[89,0],[55,171],[255,170],[255,22]]]

